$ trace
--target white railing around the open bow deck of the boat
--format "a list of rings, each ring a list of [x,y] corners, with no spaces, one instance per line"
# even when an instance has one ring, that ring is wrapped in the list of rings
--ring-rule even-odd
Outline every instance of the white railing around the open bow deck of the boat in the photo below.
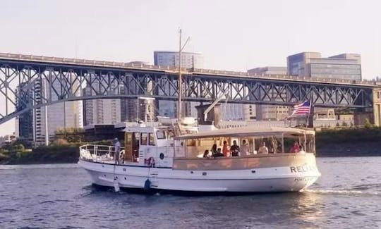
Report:
[[[85,144],[80,146],[80,159],[84,161],[95,161],[102,163],[114,163],[115,147],[101,144]],[[124,154],[124,147],[121,147],[119,155]]]

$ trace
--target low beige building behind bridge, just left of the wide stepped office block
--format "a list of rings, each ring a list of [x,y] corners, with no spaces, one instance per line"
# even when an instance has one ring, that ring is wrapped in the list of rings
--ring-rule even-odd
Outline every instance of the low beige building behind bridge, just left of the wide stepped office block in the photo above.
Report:
[[[286,67],[267,66],[263,68],[253,68],[248,70],[248,73],[258,75],[286,75]],[[252,113],[254,105],[246,105],[245,113]],[[255,105],[255,120],[284,120],[289,116],[289,106],[276,105]],[[250,116],[248,120],[254,119]]]

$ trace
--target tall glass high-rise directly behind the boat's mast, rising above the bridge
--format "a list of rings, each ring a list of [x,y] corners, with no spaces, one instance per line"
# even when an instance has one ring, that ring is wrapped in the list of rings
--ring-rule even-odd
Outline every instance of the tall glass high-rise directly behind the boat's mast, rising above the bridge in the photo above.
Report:
[[[183,68],[202,68],[203,56],[200,53],[181,52],[181,67]],[[155,66],[179,67],[180,58],[178,51],[154,51]],[[167,90],[170,86],[168,85]],[[186,116],[197,117],[198,102],[184,102],[184,111]],[[159,115],[176,117],[177,103],[176,101],[159,101]]]

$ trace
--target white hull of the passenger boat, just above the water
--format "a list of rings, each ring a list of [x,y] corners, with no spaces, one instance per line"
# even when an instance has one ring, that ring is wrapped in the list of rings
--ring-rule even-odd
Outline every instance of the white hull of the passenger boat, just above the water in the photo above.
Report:
[[[106,187],[186,192],[298,192],[319,178],[317,168],[290,166],[231,171],[190,171],[172,168],[114,165],[80,160],[92,182]]]

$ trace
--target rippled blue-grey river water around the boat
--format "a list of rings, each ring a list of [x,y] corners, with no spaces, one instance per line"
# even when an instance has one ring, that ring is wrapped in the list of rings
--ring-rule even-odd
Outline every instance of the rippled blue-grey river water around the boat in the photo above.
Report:
[[[317,163],[305,192],[216,197],[99,190],[75,164],[0,166],[0,228],[381,228],[381,157]]]

